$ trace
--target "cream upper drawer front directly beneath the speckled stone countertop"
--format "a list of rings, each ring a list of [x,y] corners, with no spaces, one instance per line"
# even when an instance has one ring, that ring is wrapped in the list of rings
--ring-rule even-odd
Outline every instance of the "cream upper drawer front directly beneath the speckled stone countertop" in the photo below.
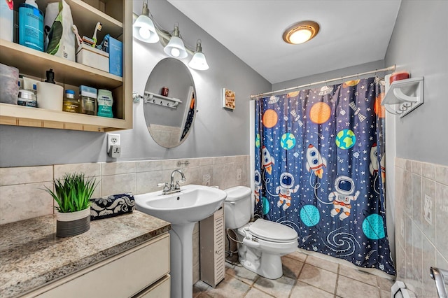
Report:
[[[132,297],[168,273],[169,234],[165,234],[25,297]]]

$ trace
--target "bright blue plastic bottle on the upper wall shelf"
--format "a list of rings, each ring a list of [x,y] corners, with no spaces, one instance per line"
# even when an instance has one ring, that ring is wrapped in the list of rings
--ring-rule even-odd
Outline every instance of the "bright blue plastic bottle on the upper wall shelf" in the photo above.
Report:
[[[35,0],[19,6],[19,43],[43,52],[43,13]]]

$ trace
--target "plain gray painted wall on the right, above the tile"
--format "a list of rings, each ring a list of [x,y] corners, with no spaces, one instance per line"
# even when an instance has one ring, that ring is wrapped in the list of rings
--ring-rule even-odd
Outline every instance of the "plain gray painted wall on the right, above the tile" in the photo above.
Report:
[[[386,64],[424,77],[424,104],[396,118],[397,157],[448,165],[448,1],[402,1]]]

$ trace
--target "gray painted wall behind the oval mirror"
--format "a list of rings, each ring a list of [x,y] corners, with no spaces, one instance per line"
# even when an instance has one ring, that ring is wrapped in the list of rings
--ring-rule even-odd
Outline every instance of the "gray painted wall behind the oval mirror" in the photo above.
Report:
[[[142,1],[134,1],[135,13],[141,13],[141,7]],[[122,143],[118,159],[107,157],[103,133],[0,125],[1,167],[248,154],[249,95],[266,92],[271,84],[167,1],[149,1],[149,8],[165,29],[172,30],[174,23],[179,22],[181,36],[189,45],[195,45],[200,38],[207,55],[210,69],[191,71],[199,113],[187,141],[172,149],[158,146],[146,129],[140,102],[133,107],[134,128],[118,132]],[[143,94],[151,70],[167,56],[160,43],[134,40],[133,47],[134,91]],[[191,56],[182,62],[188,64],[189,59]],[[233,112],[221,108],[223,87],[237,94],[237,108]]]

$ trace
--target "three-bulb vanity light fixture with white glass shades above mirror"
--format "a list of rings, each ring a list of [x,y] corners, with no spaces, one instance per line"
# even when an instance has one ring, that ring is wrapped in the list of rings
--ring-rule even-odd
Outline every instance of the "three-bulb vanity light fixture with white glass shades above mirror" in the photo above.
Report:
[[[137,20],[135,20],[137,18]],[[188,63],[191,69],[198,71],[205,71],[209,69],[209,64],[202,53],[202,43],[197,41],[196,49],[188,48],[183,43],[182,36],[179,33],[179,24],[174,24],[174,31],[167,31],[160,27],[155,22],[153,15],[148,9],[148,0],[144,0],[143,10],[141,15],[134,13],[134,29],[133,35],[135,38],[145,43],[157,43],[160,41],[164,46],[164,52],[169,57],[183,59],[188,57],[188,54],[193,55],[193,58]]]

